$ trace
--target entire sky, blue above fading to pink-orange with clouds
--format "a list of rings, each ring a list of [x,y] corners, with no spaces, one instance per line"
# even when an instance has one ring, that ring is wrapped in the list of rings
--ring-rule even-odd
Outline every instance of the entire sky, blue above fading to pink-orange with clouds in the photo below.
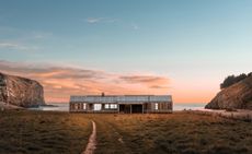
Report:
[[[207,103],[251,72],[251,0],[0,0],[0,71],[70,95]]]

